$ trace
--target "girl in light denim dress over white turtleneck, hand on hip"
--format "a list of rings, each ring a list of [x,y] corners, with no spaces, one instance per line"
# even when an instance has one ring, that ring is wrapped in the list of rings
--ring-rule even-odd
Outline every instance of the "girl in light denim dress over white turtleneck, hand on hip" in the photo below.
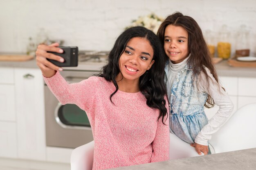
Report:
[[[171,104],[170,144],[177,135],[194,146],[199,155],[206,155],[208,140],[229,119],[233,104],[218,82],[202,31],[192,17],[179,12],[169,15],[157,36],[169,58],[165,81]],[[204,106],[214,104],[220,109],[208,121]]]

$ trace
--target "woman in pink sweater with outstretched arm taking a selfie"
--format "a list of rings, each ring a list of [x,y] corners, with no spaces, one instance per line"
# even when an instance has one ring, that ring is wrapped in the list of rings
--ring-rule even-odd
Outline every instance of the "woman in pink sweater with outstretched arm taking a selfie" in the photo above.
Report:
[[[48,59],[63,52],[58,44],[40,45],[37,65],[62,104],[85,110],[94,137],[93,168],[107,169],[169,159],[168,100],[165,100],[164,51],[144,27],[124,31],[99,76],[68,84]],[[166,98],[167,99],[167,98]],[[167,106],[167,108],[166,108]]]

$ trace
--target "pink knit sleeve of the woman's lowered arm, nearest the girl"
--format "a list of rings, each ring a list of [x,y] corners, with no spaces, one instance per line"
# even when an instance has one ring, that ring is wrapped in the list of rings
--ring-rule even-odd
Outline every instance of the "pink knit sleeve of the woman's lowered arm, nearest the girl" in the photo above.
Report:
[[[160,162],[169,160],[169,148],[170,148],[170,131],[169,131],[169,107],[168,100],[166,99],[167,115],[164,117],[164,123],[162,117],[157,121],[157,131],[155,139],[152,142],[153,153],[151,162]]]

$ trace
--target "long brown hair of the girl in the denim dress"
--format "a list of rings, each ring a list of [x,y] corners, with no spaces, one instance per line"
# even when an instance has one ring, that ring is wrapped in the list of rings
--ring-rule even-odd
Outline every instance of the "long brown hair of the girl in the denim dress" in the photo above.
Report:
[[[162,46],[164,46],[164,31],[166,26],[168,25],[181,26],[189,33],[188,48],[191,56],[189,57],[187,63],[189,68],[192,68],[193,74],[199,75],[199,73],[202,71],[207,77],[207,86],[209,87],[210,77],[208,76],[204,68],[205,66],[210,70],[215,80],[219,83],[218,76],[212,63],[209,49],[207,47],[207,43],[204,40],[202,30],[198,23],[192,17],[183,15],[180,12],[175,12],[169,15],[168,17],[166,17],[164,22],[162,22],[157,31],[157,36],[160,39]],[[215,103],[213,101],[213,98],[208,95],[204,106],[207,108],[211,108],[214,106],[214,104]]]

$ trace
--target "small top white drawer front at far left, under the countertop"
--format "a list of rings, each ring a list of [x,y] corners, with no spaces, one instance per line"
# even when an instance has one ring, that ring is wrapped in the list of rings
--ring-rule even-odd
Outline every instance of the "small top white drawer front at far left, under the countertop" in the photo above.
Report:
[[[0,83],[14,84],[13,68],[0,68]]]

